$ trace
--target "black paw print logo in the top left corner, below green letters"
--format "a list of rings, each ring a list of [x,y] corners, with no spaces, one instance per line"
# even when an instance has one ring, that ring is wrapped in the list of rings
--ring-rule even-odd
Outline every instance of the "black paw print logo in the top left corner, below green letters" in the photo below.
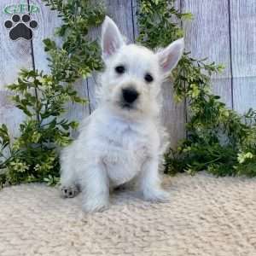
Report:
[[[31,20],[30,15],[13,15],[11,20],[6,20],[4,26],[9,29],[9,38],[17,40],[20,38],[31,40],[32,31],[38,27],[36,20]]]

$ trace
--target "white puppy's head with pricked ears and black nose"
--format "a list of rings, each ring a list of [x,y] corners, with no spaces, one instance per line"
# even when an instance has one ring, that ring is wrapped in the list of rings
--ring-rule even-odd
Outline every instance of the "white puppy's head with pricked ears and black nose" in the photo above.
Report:
[[[102,25],[101,101],[125,116],[157,110],[160,84],[183,54],[183,38],[154,53],[136,44],[125,44],[119,28],[108,16]]]

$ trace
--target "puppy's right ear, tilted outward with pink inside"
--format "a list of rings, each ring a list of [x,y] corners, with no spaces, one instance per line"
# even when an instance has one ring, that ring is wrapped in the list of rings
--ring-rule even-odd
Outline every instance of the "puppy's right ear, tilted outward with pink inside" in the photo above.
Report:
[[[158,56],[160,68],[164,76],[168,76],[168,74],[172,71],[174,67],[176,67],[177,62],[180,60],[183,55],[184,49],[184,39],[180,38],[165,49],[161,49],[156,55]]]

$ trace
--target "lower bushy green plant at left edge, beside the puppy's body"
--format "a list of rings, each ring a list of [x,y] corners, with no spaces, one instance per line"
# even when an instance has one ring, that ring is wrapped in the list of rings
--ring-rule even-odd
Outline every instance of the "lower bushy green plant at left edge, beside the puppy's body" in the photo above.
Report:
[[[70,85],[61,85],[51,75],[21,70],[15,84],[8,86],[15,92],[15,106],[26,114],[20,124],[20,137],[11,142],[6,125],[0,129],[2,183],[43,181],[44,177],[58,177],[57,147],[71,142],[70,129],[77,122],[61,119],[65,103],[84,102]],[[37,90],[37,94],[35,94]]]

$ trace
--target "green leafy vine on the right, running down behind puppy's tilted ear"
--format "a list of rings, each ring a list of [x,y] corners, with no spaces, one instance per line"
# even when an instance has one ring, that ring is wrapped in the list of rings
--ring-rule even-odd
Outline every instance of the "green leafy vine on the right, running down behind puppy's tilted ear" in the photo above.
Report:
[[[181,38],[181,20],[191,19],[173,6],[174,0],[139,1],[139,41],[150,47],[165,47]],[[250,109],[244,116],[226,108],[211,92],[212,73],[224,67],[195,60],[185,53],[173,72],[175,99],[186,99],[189,121],[187,138],[166,154],[166,172],[195,173],[207,170],[217,176],[256,176],[256,119]]]

